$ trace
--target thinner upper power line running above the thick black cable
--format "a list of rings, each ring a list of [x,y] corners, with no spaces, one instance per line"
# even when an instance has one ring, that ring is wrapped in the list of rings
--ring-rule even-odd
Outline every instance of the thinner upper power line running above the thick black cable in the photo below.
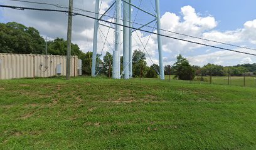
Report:
[[[56,6],[57,8],[68,8],[66,6],[55,5],[55,4],[50,4],[50,3],[46,3],[46,2],[32,2],[32,1],[23,1],[23,0],[10,0],[10,1],[29,2],[29,3],[34,3],[34,4],[47,4],[47,5],[51,5],[51,6]],[[151,2],[151,4],[152,4],[152,2]],[[140,6],[141,6],[141,3],[139,4],[139,7]],[[100,14],[100,13],[96,13],[96,12],[92,12],[92,11],[87,11],[87,10],[79,9],[79,8],[73,8],[73,9],[77,9],[77,11],[84,11],[84,12],[89,12],[89,13],[93,13],[93,14]],[[138,13],[138,11],[137,11],[137,13]],[[100,14],[100,15],[103,16],[104,14]],[[108,16],[108,15],[104,15],[104,16],[116,19],[115,17],[112,17],[112,16]],[[137,14],[136,14],[136,17],[137,17]],[[124,21],[123,19],[119,19],[119,20]],[[145,26],[144,24],[139,24],[139,23],[134,22],[134,21],[133,22],[132,21],[128,21],[128,22],[131,22],[132,24],[137,24],[137,25],[140,25],[140,26],[144,26],[144,27],[150,27],[152,29],[157,29],[157,27],[152,27],[152,26],[148,26],[148,25]],[[190,36],[188,34],[183,34],[183,33],[180,33],[180,32],[169,31],[169,30],[166,30],[166,29],[160,29],[160,30],[161,31],[165,31],[165,32],[171,32],[173,34],[178,34],[178,35],[181,35],[181,36],[187,36],[187,37],[192,37],[192,38],[195,38],[195,39],[201,39],[203,41],[215,42],[215,43],[224,44],[224,45],[227,45],[227,46],[233,46],[233,47],[238,47],[238,48],[243,48],[243,49],[249,49],[249,50],[256,51],[256,49],[253,49],[253,48],[250,48],[250,47],[237,46],[235,44],[228,44],[226,42],[220,42],[220,41],[215,41],[215,40],[211,40],[211,39],[205,39],[205,38],[202,38],[202,37]]]

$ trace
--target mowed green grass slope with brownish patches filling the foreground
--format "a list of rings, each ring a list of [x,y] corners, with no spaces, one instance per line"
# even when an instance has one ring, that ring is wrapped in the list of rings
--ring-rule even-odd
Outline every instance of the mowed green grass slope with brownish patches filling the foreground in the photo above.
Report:
[[[256,149],[256,88],[157,79],[0,81],[0,149]]]

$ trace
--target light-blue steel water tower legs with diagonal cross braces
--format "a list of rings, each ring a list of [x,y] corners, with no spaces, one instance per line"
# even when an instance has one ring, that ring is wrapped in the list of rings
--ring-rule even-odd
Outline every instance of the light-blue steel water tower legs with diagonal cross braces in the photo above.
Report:
[[[123,18],[121,17],[122,14],[122,4],[121,2],[123,1]],[[124,25],[124,42],[123,42],[123,56],[124,56],[124,60],[123,60],[123,66],[124,66],[124,78],[125,79],[129,79],[132,78],[132,29],[129,27],[132,27],[132,7],[138,9],[139,11],[145,12],[151,16],[156,17],[156,21],[157,21],[157,33],[159,34],[157,36],[157,41],[158,41],[158,53],[159,53],[159,66],[160,66],[160,76],[161,79],[164,79],[164,66],[163,66],[163,48],[162,48],[162,40],[161,40],[161,22],[160,22],[160,10],[159,10],[159,0],[155,0],[156,2],[156,15],[151,14],[150,12],[144,11],[143,9],[135,6],[134,4],[131,3],[132,0],[115,0],[114,4],[115,4],[115,41],[114,41],[114,51],[113,51],[113,78],[114,79],[120,79],[120,45],[121,45],[121,41],[120,41],[120,24]],[[95,2],[95,18],[99,18],[99,0],[96,0]],[[110,8],[112,6],[114,6],[114,4],[112,4],[110,6]],[[109,9],[110,9],[109,8]],[[109,9],[107,9],[107,11],[104,13],[104,15],[109,11]],[[104,15],[102,15],[100,18],[102,18]],[[145,24],[144,26],[141,26],[139,29],[141,29],[142,27],[147,26],[148,24],[151,24],[154,21],[148,22],[147,24]],[[103,24],[104,25],[104,24]],[[104,25],[106,26],[106,25]],[[112,28],[112,27],[110,27]],[[99,21],[95,20],[95,24],[94,24],[94,37],[93,37],[93,56],[92,56],[92,76],[95,76],[95,71],[96,71],[96,56],[97,56],[97,34],[98,34],[98,29],[99,29]],[[157,71],[158,72],[158,71]]]

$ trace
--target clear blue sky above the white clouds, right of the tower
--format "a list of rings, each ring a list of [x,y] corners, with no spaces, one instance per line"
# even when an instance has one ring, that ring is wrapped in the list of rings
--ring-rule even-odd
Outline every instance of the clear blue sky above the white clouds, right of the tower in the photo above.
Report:
[[[183,6],[192,6],[203,16],[211,14],[219,21],[221,31],[243,27],[243,23],[255,19],[255,0],[162,0],[161,14],[171,11],[179,14]]]

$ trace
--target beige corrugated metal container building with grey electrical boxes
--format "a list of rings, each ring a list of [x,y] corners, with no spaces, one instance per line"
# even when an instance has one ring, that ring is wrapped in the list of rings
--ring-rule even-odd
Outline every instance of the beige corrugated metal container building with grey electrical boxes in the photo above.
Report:
[[[0,79],[66,75],[66,56],[0,53]],[[71,59],[71,76],[82,75],[82,61]]]

